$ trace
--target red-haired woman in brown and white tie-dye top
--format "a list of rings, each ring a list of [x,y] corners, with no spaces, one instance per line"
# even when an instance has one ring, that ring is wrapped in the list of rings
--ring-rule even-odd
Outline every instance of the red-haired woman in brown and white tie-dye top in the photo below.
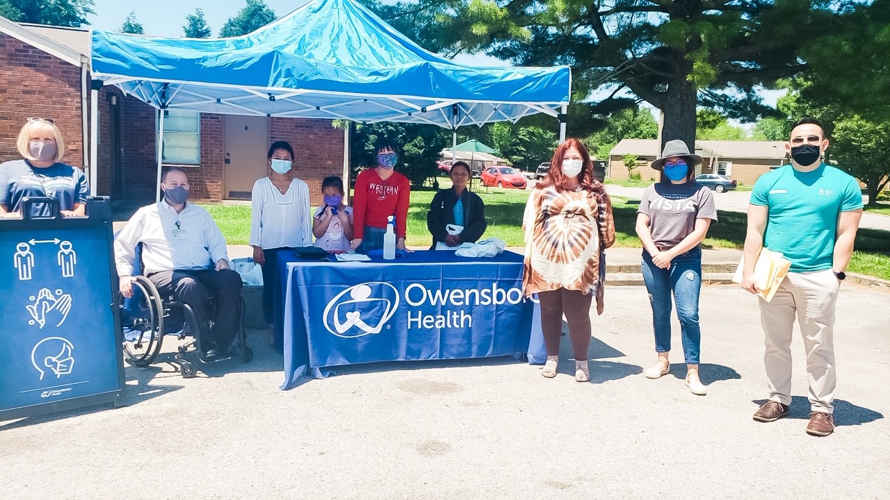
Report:
[[[562,315],[575,353],[575,380],[587,382],[590,304],[603,313],[604,250],[615,242],[615,222],[606,190],[593,178],[587,148],[563,142],[550,172],[531,192],[522,217],[526,249],[522,286],[538,294],[547,361],[541,375],[556,376]]]

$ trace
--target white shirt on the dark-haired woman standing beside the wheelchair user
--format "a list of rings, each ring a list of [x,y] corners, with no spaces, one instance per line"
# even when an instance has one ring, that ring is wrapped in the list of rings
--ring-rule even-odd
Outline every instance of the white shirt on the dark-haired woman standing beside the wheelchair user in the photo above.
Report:
[[[250,206],[251,246],[312,246],[312,213],[305,182],[294,179],[281,194],[270,178],[263,177],[254,183]]]

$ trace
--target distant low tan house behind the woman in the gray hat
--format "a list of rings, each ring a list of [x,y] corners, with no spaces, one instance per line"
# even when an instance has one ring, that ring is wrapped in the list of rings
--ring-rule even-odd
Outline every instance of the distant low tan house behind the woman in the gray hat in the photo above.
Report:
[[[720,173],[742,184],[753,185],[757,177],[788,163],[784,141],[695,141],[695,153],[703,158],[696,173]],[[660,154],[655,139],[624,139],[609,152],[606,179],[627,179],[625,155],[635,155],[643,180],[659,180],[650,168]]]

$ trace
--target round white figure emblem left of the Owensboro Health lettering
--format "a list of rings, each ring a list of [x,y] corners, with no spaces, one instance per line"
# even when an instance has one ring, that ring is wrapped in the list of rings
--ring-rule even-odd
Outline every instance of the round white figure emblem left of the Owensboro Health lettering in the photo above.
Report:
[[[389,283],[350,286],[325,307],[325,328],[344,338],[379,334],[398,307],[399,291]]]

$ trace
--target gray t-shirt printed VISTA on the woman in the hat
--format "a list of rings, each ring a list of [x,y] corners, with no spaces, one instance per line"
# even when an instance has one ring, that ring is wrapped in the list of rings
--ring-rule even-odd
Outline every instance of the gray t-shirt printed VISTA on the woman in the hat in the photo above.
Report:
[[[636,213],[649,215],[649,230],[659,250],[667,250],[683,241],[695,230],[696,219],[717,220],[711,190],[696,181],[652,184],[643,193]]]

